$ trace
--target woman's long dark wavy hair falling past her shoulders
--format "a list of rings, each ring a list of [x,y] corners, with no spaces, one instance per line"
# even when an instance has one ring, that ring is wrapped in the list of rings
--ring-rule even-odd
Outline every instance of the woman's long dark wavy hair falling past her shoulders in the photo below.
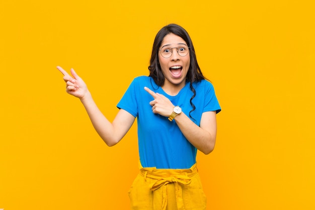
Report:
[[[193,117],[191,116],[191,112],[194,111],[196,107],[193,104],[192,100],[196,96],[196,90],[194,89],[192,84],[194,82],[205,80],[206,78],[201,73],[200,67],[197,62],[195,48],[191,41],[191,38],[183,27],[177,24],[170,24],[163,27],[159,32],[157,32],[153,42],[150,65],[148,66],[148,69],[150,71],[149,77],[151,77],[158,86],[161,87],[164,85],[165,77],[162,73],[159,61],[159,49],[161,47],[164,37],[168,34],[175,34],[181,37],[182,39],[184,39],[189,47],[190,65],[186,76],[186,82],[190,82],[190,90],[193,92],[193,96],[190,99],[192,110],[189,112],[189,116],[193,119]]]

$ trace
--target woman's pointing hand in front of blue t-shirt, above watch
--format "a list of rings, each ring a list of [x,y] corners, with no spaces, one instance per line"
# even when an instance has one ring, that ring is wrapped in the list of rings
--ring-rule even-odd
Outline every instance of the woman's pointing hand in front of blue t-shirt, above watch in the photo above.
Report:
[[[153,101],[150,101],[152,112],[154,114],[160,114],[165,117],[169,117],[172,114],[174,105],[170,99],[160,93],[154,93],[147,87],[144,87],[144,90],[148,92],[154,99]]]

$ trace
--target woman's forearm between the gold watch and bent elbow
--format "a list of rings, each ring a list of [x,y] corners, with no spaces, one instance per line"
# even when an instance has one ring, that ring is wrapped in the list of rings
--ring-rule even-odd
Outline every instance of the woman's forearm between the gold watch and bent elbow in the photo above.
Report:
[[[199,127],[183,112],[175,117],[175,121],[184,136],[198,150],[206,155],[213,151],[216,132]]]

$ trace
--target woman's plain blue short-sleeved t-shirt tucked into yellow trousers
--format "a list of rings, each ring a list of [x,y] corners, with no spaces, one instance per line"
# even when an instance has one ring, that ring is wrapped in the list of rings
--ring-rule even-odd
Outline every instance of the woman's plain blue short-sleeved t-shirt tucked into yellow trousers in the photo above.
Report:
[[[196,163],[197,149],[185,138],[175,120],[170,121],[168,117],[152,112],[149,102],[153,100],[153,97],[144,90],[144,87],[163,94],[175,106],[180,106],[182,112],[189,117],[189,112],[192,110],[190,98],[193,96],[190,83],[187,82],[176,96],[170,96],[157,86],[151,77],[137,77],[117,105],[119,109],[124,109],[137,117],[139,157],[143,167],[190,168]],[[203,112],[216,111],[218,113],[221,108],[210,82],[202,80],[194,83],[193,87],[196,90],[196,96],[193,99],[196,109],[191,112],[191,119],[199,126]]]

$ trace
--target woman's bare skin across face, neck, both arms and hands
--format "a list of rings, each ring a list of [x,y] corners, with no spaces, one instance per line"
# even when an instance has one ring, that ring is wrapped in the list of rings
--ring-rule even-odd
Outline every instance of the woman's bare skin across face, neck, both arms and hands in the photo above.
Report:
[[[186,44],[181,37],[169,34],[164,37],[160,49],[164,45],[177,47],[179,43]],[[164,58],[161,53],[159,53],[159,59],[162,72],[165,76],[165,84],[162,88],[169,95],[177,95],[186,84],[186,75],[190,65],[190,57],[189,55],[180,56],[175,48],[173,49],[171,57]],[[170,72],[170,67],[174,65],[182,66],[180,75],[174,75]],[[81,100],[95,130],[98,132],[103,141],[108,146],[116,145],[130,129],[135,117],[129,112],[120,109],[113,122],[110,122],[99,110],[87,88],[87,85],[74,72],[74,70],[71,68],[70,76],[60,66],[57,66],[57,69],[63,74],[63,80],[66,83],[66,92]],[[147,87],[144,87],[144,90],[153,97],[153,100],[150,101],[149,104],[152,106],[152,112],[154,114],[160,114],[165,117],[169,117],[172,114],[175,105],[172,104],[166,96],[154,93]],[[191,121],[191,119],[183,112],[177,115],[174,120],[188,141],[198,150],[204,154],[209,154],[213,151],[216,138],[215,111],[204,112],[202,114],[200,127]]]

